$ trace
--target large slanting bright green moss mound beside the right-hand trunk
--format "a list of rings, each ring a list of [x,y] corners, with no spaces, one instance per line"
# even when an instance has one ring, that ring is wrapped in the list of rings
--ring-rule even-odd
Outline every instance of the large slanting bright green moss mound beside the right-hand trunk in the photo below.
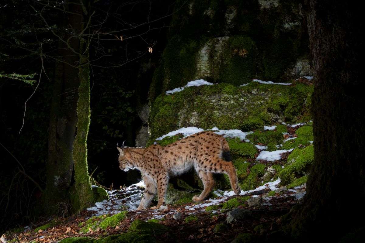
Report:
[[[288,156],[288,163],[284,169],[278,173],[281,179],[281,185],[288,185],[293,183],[299,177],[302,177],[304,173],[308,173],[310,165],[314,159],[313,145],[306,148],[296,148],[292,154]]]

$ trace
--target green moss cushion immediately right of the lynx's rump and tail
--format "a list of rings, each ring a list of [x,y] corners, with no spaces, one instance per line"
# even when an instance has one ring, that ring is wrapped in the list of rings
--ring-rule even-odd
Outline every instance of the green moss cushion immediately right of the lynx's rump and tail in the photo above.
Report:
[[[257,153],[255,145],[250,142],[241,141],[239,138],[228,140],[228,146],[233,160],[239,157],[255,158]]]

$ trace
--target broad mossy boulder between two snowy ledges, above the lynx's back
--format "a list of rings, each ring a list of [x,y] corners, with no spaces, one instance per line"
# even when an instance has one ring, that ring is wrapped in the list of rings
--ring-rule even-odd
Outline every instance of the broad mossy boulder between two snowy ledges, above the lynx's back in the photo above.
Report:
[[[297,122],[307,112],[305,102],[312,92],[308,87],[301,83],[284,86],[251,82],[241,87],[218,83],[186,87],[172,95],[161,94],[151,105],[148,144],[170,131],[188,126],[248,132],[271,125],[271,119]],[[281,132],[285,127],[278,125],[277,134],[278,129]],[[169,142],[172,141],[166,144]]]

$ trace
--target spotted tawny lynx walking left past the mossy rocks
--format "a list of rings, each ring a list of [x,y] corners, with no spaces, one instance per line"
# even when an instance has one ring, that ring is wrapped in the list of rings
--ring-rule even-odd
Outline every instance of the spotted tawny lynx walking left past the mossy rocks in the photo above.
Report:
[[[145,192],[137,210],[146,209],[158,194],[157,207],[165,203],[169,176],[180,175],[194,168],[203,181],[204,190],[193,201],[201,201],[211,192],[215,182],[213,173],[226,173],[236,195],[241,192],[236,169],[230,162],[229,146],[223,136],[213,132],[199,132],[164,147],[154,144],[148,148],[119,150],[119,168],[123,171],[139,169],[145,182]],[[224,157],[227,161],[222,160]]]

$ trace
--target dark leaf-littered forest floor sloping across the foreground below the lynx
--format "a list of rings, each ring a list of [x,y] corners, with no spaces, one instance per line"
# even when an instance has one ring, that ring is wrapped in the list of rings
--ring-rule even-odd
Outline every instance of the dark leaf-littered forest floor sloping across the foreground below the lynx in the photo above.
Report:
[[[275,234],[283,225],[283,220],[290,219],[288,214],[294,205],[300,203],[302,196],[306,191],[306,185],[296,187],[296,190],[287,190],[281,193],[276,193],[275,196],[262,197],[269,203],[262,203],[259,206],[243,207],[251,211],[250,216],[239,219],[236,222],[227,223],[227,213],[234,209],[218,209],[218,211],[205,211],[205,207],[195,207],[195,203],[186,203],[180,205],[167,205],[166,209],[153,210],[146,209],[144,211],[128,211],[126,219],[117,223],[115,227],[106,229],[90,229],[88,233],[80,233],[80,223],[87,221],[90,217],[98,215],[97,211],[85,210],[77,215],[69,217],[57,218],[57,224],[44,230],[35,230],[49,222],[41,222],[39,225],[34,225],[31,230],[17,233],[16,239],[20,243],[36,243],[36,242],[59,242],[64,238],[69,237],[91,237],[95,239],[104,238],[108,235],[121,234],[128,232],[130,224],[135,219],[140,220],[158,220],[158,223],[164,224],[172,230],[165,234],[156,234],[154,238],[161,242],[232,242],[235,238],[240,237],[242,233],[249,233],[254,237],[254,241],[250,242],[276,242],[278,236]],[[242,197],[247,195],[233,196]],[[265,196],[263,193],[260,196]],[[230,198],[225,198],[229,200]],[[299,198],[299,199],[298,199]],[[218,199],[218,198],[217,198]],[[204,203],[210,203],[206,200]],[[204,204],[205,205],[205,204]],[[180,219],[174,219],[173,215],[176,212],[181,212]],[[100,213],[99,213],[100,214]],[[286,216],[284,216],[286,215]],[[282,217],[284,216],[284,217]],[[288,216],[288,217],[287,217]],[[189,219],[192,221],[189,222]],[[284,221],[286,221],[284,220]],[[216,232],[215,228],[218,224],[224,224],[222,232]],[[221,229],[222,230],[222,229]],[[242,236],[242,235],[241,235]],[[14,241],[14,240],[13,240]],[[285,241],[285,240],[284,240]],[[243,242],[235,240],[235,242]],[[246,242],[246,241],[244,241]]]

